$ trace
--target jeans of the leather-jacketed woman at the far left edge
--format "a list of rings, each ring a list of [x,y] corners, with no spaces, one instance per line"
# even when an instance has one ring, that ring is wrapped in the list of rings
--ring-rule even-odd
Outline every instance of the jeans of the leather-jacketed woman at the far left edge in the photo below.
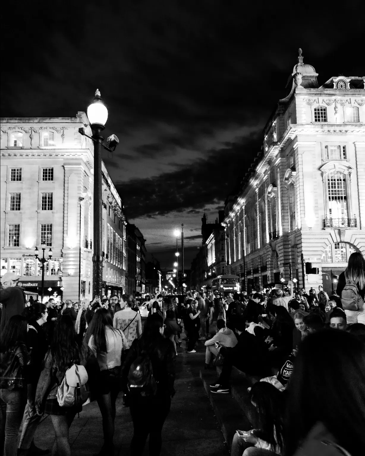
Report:
[[[16,456],[18,432],[26,404],[26,389],[0,389],[0,454]]]

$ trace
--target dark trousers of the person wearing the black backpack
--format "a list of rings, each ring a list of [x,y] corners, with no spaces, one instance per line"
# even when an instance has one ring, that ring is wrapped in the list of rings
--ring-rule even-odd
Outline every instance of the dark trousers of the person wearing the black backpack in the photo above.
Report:
[[[159,456],[162,446],[162,428],[169,414],[171,399],[167,397],[130,398],[133,421],[131,456],[141,456],[149,434],[149,455]]]

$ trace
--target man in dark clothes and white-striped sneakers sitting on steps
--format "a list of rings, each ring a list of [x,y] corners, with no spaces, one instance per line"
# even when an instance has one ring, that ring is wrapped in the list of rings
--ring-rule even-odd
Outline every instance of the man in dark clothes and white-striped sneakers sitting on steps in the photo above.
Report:
[[[222,373],[216,383],[211,384],[212,393],[228,393],[229,379],[233,366],[249,374],[265,377],[270,375],[269,352],[261,338],[245,331],[243,318],[235,321],[238,343],[235,347],[220,347],[224,356]]]

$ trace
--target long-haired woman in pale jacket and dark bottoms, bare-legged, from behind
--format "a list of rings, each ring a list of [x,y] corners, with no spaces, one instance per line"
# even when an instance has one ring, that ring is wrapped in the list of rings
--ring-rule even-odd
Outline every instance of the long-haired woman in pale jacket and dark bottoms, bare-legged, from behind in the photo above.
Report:
[[[127,349],[123,333],[113,328],[111,312],[100,309],[95,312],[93,331],[89,347],[96,356],[101,370],[100,389],[97,401],[103,419],[104,445],[99,454],[112,454],[114,451],[115,403],[119,393],[118,368],[121,370],[122,351]]]

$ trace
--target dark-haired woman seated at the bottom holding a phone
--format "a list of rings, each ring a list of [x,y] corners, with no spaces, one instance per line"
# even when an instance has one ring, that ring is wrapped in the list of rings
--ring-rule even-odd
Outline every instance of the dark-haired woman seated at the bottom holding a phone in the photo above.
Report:
[[[251,388],[250,400],[256,412],[257,429],[236,432],[231,456],[283,454],[283,393],[270,383],[258,382]]]

